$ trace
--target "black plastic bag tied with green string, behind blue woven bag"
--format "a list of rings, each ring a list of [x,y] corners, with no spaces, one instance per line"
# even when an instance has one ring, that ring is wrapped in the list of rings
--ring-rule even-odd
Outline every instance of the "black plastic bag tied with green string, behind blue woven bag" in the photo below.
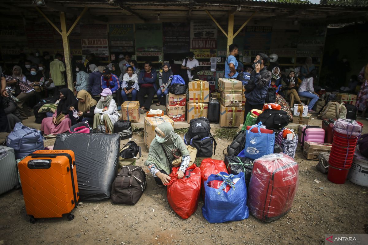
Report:
[[[253,170],[252,160],[241,156],[225,156],[224,162],[229,174],[237,175],[240,172],[244,172],[245,185],[248,188]]]

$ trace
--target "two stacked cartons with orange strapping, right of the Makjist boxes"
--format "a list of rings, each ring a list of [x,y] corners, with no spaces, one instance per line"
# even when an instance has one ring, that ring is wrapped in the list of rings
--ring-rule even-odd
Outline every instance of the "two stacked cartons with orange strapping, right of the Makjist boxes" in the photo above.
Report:
[[[189,82],[189,103],[187,104],[187,122],[201,116],[208,116],[209,83],[195,80]]]

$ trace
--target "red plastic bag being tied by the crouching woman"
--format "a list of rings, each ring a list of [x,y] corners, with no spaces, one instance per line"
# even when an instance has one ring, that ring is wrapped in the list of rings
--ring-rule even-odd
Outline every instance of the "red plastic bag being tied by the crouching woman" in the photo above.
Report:
[[[182,179],[178,179],[178,169],[178,167],[173,167],[169,175],[171,180],[167,184],[167,201],[175,213],[183,219],[188,219],[198,207],[201,192],[201,169],[193,164],[187,168]]]

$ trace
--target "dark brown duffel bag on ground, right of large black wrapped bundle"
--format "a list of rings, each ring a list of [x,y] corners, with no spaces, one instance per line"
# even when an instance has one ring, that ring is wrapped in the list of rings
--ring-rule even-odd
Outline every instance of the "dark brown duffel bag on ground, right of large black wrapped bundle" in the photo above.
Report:
[[[113,203],[134,205],[147,186],[146,174],[141,166],[123,166],[111,188]]]

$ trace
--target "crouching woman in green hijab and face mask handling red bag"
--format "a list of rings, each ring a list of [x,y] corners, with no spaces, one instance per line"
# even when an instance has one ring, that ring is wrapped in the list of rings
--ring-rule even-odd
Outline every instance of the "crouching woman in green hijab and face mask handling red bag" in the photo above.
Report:
[[[158,187],[163,187],[163,184],[170,182],[171,162],[175,159],[171,151],[177,149],[181,152],[182,161],[177,172],[178,179],[184,177],[190,162],[190,155],[184,141],[178,134],[174,133],[170,123],[161,123],[156,127],[155,132],[156,137],[149,146],[147,161],[144,164],[148,166],[149,171],[155,177]]]

